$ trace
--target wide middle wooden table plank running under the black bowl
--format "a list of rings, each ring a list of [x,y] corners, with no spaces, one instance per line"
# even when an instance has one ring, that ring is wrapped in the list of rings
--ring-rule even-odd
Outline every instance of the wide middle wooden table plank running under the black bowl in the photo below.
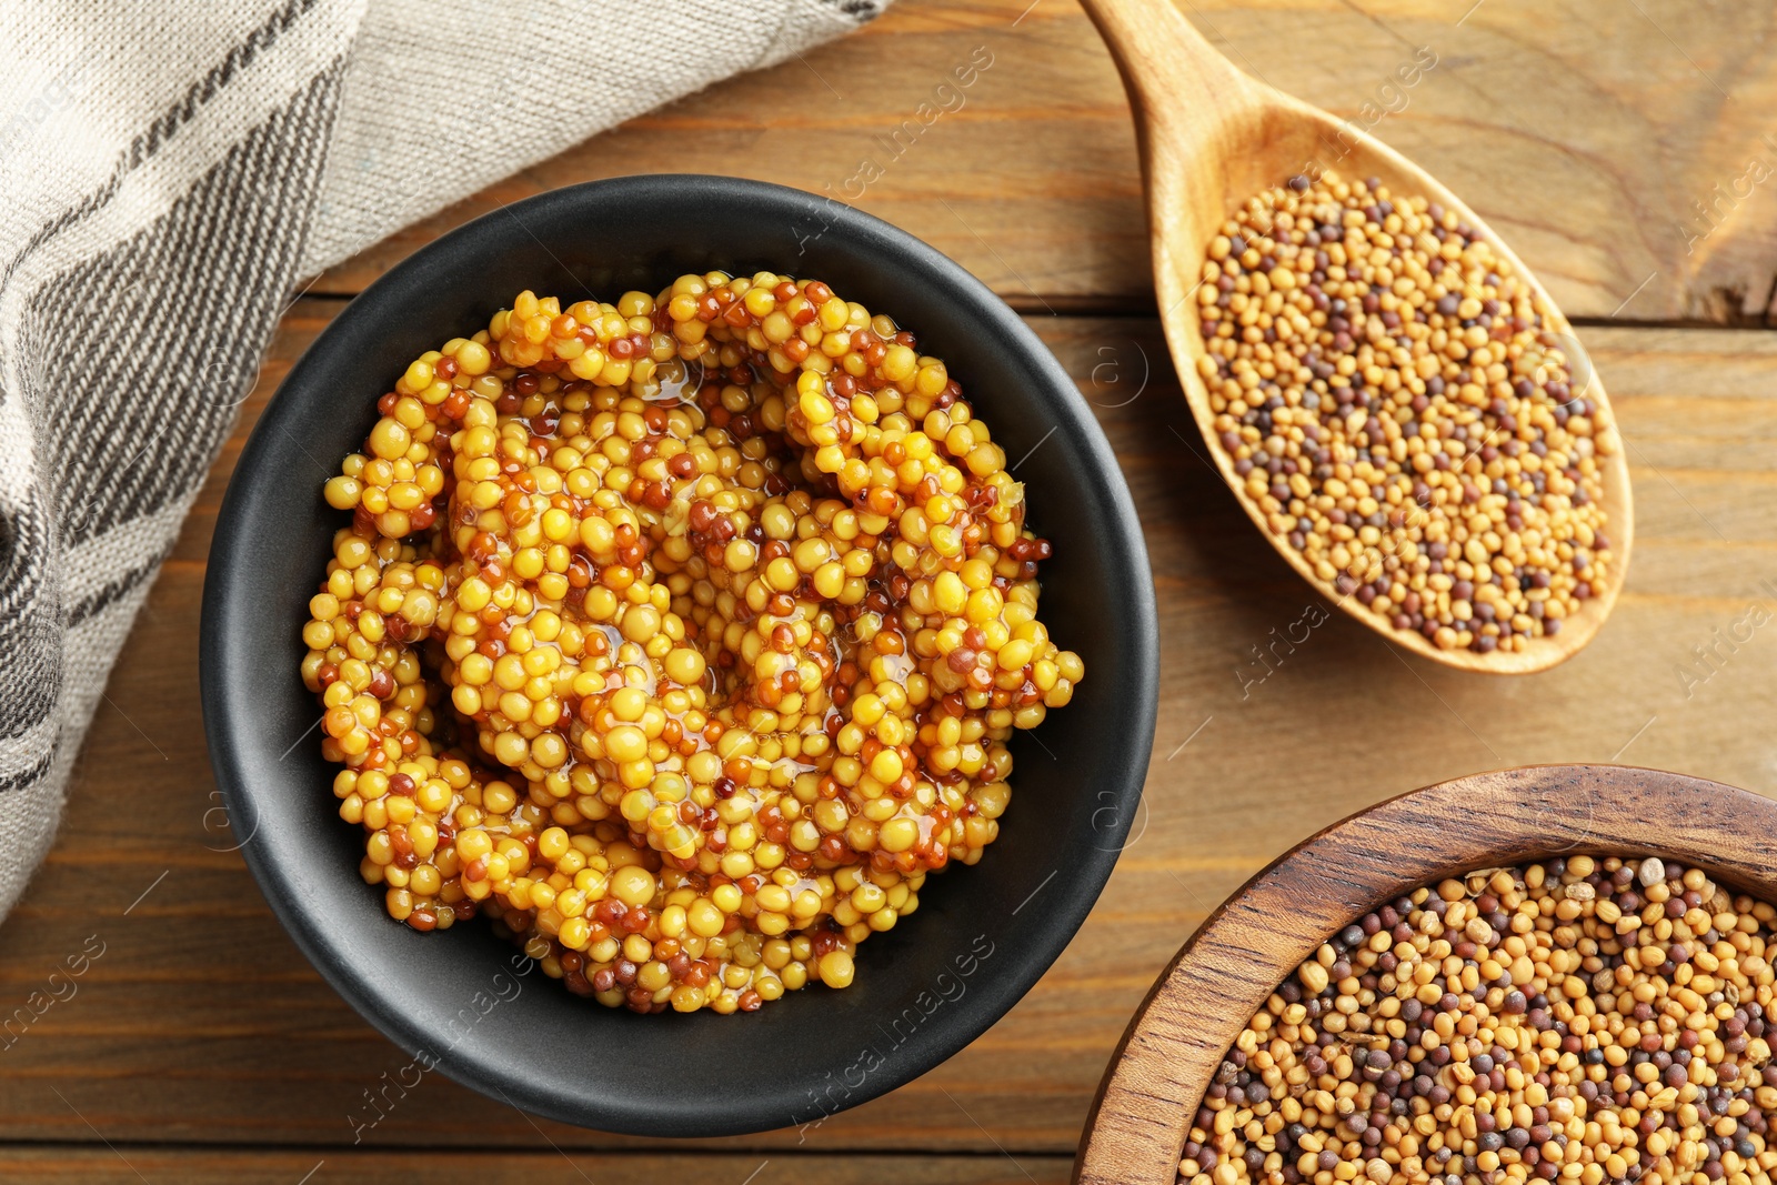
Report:
[[[302,959],[240,856],[217,851],[231,846],[220,819],[206,819],[215,799],[197,707],[201,560],[247,426],[339,307],[306,298],[286,318],[267,382],[110,679],[62,835],[0,927],[0,1011],[23,1004],[89,934],[107,943],[75,998],[0,1048],[0,1141],[91,1142],[60,1091],[112,1141],[331,1155],[352,1141],[354,1101],[407,1061]],[[1061,961],[968,1050],[803,1135],[716,1148],[894,1151],[913,1139],[928,1151],[1064,1157],[1130,1011],[1205,913],[1295,840],[1386,794],[1619,752],[1777,792],[1761,727],[1777,707],[1777,663],[1761,648],[1777,636],[1759,631],[1688,698],[1676,675],[1693,661],[1690,647],[1752,599],[1777,608],[1759,585],[1777,583],[1777,460],[1757,448],[1777,433],[1777,332],[1582,330],[1635,446],[1640,529],[1617,613],[1580,657],[1528,679],[1468,677],[1335,618],[1242,689],[1237,670],[1251,648],[1295,620],[1310,592],[1198,457],[1157,323],[1031,323],[1118,451],[1160,588],[1162,698],[1144,817]],[[1251,666],[1247,680],[1258,673]],[[538,1126],[567,1149],[645,1144]],[[530,1119],[441,1077],[364,1135],[377,1148],[538,1142]]]

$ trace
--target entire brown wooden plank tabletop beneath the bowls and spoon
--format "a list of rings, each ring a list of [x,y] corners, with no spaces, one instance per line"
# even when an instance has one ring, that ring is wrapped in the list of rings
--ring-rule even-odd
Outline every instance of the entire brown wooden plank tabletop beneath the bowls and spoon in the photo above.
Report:
[[[1512,238],[1582,325],[1630,444],[1640,521],[1615,616],[1544,675],[1454,673],[1340,615],[1283,664],[1255,664],[1255,647],[1311,593],[1201,460],[1153,320],[1128,110],[1070,0],[901,0],[844,43],[638,119],[320,277],[284,318],[112,672],[60,839],[0,927],[7,1009],[91,934],[105,950],[76,997],[0,1048],[0,1180],[1047,1185],[1066,1180],[1105,1059],[1148,982],[1221,897],[1310,831],[1398,791],[1525,762],[1615,759],[1777,794],[1777,510],[1766,501],[1777,499],[1777,453],[1766,451],[1777,334],[1765,329],[1777,195],[1754,179],[1777,165],[1777,137],[1761,139],[1777,98],[1777,16],[1754,9],[1191,9],[1272,84],[1375,117],[1379,135]],[[965,107],[885,160],[876,137],[977,46],[993,64]],[[1434,50],[1436,69],[1413,91],[1383,92],[1418,46]],[[1164,648],[1136,840],[1086,927],[1009,1016],[805,1142],[796,1132],[693,1144],[581,1132],[432,1075],[354,1144],[348,1114],[407,1059],[272,920],[227,851],[204,760],[197,602],[240,442],[352,293],[466,219],[641,171],[837,190],[865,156],[883,176],[858,204],[958,258],[1029,316],[1093,402],[1134,489]],[[1720,643],[1756,606],[1772,620],[1750,641]],[[1699,659],[1699,647],[1715,654]]]

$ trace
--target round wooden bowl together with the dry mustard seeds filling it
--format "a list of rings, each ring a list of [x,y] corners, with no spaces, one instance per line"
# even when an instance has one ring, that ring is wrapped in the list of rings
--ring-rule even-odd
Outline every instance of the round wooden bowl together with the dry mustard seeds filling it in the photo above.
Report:
[[[1743,791],[1571,766],[1322,831],[1160,979],[1079,1180],[1770,1181],[1773,823]]]

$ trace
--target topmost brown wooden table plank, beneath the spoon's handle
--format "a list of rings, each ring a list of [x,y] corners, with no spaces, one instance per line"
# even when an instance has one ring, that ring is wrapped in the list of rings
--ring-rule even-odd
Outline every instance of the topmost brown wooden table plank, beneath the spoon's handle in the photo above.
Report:
[[[1708,0],[1189,0],[1237,64],[1441,178],[1573,318],[1757,320],[1777,295],[1777,12]],[[1473,11],[1470,11],[1473,7]],[[1466,18],[1466,20],[1464,20]],[[977,48],[954,114],[883,147]],[[1420,46],[1438,66],[1386,89]],[[1331,48],[1331,52],[1329,52]],[[832,192],[1034,311],[1151,304],[1136,135],[1073,0],[901,0],[855,37],[634,119],[368,247],[414,247],[558,185],[727,172]],[[947,99],[954,105],[956,99]],[[881,176],[848,187],[862,162]],[[1757,162],[1757,163],[1754,163]]]

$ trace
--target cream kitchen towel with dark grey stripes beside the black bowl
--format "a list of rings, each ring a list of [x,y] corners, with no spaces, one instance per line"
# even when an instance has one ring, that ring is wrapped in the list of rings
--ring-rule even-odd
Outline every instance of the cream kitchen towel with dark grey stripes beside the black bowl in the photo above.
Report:
[[[295,281],[885,4],[0,0],[0,915]]]

